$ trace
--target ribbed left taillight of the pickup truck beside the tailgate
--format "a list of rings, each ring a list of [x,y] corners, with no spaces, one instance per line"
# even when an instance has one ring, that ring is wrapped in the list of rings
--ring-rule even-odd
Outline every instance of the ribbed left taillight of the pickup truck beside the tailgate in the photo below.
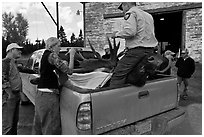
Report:
[[[92,123],[91,103],[82,103],[77,112],[77,127],[80,130],[90,130]]]

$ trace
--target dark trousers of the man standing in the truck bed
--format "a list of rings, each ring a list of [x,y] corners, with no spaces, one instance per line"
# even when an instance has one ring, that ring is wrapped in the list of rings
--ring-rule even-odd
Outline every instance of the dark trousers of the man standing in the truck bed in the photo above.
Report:
[[[118,61],[118,64],[111,77],[110,86],[115,87],[125,84],[128,73],[150,52],[153,52],[153,48],[129,49]]]

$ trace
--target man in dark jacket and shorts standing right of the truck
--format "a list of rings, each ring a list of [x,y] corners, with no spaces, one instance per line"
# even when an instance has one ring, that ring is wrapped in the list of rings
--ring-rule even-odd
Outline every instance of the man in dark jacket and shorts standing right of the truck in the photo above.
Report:
[[[188,56],[189,51],[186,49],[181,52],[181,57],[178,58],[176,62],[176,67],[178,68],[177,70],[177,81],[179,87],[181,86],[181,83],[184,83],[184,90],[183,93],[181,94],[182,99],[187,99],[188,94],[188,80],[191,78],[193,73],[195,72],[195,62],[194,60]]]

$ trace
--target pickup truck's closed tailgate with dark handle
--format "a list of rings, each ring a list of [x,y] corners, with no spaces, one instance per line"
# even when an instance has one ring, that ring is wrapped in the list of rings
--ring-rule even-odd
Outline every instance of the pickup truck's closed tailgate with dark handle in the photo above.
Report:
[[[93,134],[100,134],[177,105],[176,78],[152,81],[139,88],[126,86],[91,93]]]

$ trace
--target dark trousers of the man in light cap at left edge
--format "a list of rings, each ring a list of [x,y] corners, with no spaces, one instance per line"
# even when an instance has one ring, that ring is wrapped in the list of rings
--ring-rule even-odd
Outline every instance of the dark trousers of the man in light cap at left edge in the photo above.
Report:
[[[14,93],[12,98],[4,91],[2,95],[2,134],[17,135],[19,120],[20,93]]]

